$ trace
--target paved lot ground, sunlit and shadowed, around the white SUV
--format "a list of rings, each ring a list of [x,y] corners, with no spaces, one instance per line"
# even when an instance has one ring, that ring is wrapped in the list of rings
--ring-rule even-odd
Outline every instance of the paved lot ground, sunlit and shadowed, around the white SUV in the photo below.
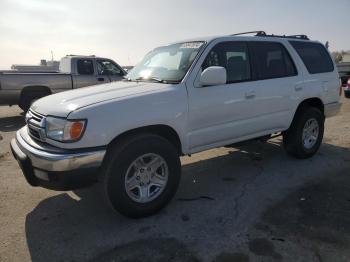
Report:
[[[0,261],[350,261],[350,100],[327,119],[319,153],[281,139],[183,157],[173,201],[127,219],[95,187],[30,187],[9,153],[24,124],[0,107]]]

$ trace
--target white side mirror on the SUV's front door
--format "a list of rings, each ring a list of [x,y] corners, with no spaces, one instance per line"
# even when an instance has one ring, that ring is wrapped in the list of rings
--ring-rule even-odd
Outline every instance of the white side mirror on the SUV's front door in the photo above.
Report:
[[[201,73],[200,84],[204,86],[216,86],[226,84],[227,73],[222,66],[210,66]]]

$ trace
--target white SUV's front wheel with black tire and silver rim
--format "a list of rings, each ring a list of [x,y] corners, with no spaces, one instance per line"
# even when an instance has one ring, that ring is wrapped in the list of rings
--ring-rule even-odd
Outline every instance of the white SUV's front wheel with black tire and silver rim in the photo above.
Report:
[[[101,183],[114,210],[139,218],[156,213],[171,200],[180,176],[176,148],[163,137],[141,134],[111,148]]]

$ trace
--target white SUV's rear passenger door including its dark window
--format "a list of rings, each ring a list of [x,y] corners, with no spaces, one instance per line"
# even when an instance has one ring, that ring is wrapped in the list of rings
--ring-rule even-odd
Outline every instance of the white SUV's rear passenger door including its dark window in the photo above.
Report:
[[[293,93],[302,80],[287,48],[280,42],[252,41],[254,122],[256,132],[288,128],[296,104]]]

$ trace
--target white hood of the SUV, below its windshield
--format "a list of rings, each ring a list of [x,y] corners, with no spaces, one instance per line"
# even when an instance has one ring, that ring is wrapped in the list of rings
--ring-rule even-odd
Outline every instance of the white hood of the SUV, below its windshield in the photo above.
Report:
[[[167,86],[150,82],[112,82],[46,96],[35,101],[31,109],[42,115],[67,117],[70,112],[85,106],[157,92]]]

